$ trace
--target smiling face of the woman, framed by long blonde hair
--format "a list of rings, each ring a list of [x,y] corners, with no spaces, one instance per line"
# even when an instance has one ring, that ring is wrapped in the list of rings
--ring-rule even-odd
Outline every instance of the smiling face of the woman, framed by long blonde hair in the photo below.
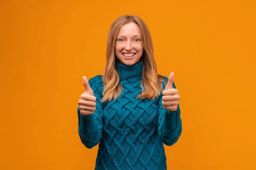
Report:
[[[116,37],[116,57],[125,65],[134,65],[143,54],[140,28],[136,23],[123,25]]]

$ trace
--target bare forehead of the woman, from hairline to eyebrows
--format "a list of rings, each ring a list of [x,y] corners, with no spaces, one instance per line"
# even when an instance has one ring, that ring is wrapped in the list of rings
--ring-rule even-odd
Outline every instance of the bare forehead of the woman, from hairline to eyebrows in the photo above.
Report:
[[[126,23],[120,28],[118,35],[140,35],[140,28],[136,23]]]

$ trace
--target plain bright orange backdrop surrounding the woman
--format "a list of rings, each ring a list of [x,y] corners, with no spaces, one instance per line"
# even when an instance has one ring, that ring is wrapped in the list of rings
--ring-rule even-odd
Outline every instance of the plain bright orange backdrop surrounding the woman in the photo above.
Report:
[[[0,169],[92,170],[76,109],[82,76],[103,74],[111,23],[141,17],[158,74],[175,72],[183,132],[169,170],[252,170],[256,159],[253,0],[0,2]],[[88,166],[88,167],[87,167]]]

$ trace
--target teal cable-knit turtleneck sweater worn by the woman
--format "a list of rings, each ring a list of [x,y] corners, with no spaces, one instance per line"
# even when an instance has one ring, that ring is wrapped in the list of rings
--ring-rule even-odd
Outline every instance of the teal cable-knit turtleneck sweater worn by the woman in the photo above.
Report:
[[[96,110],[92,115],[82,115],[78,107],[78,132],[85,147],[99,143],[95,170],[167,169],[163,143],[171,146],[180,137],[180,107],[177,111],[163,108],[163,94],[154,100],[136,98],[142,92],[142,69],[142,61],[131,66],[118,63],[123,91],[111,102],[100,102],[102,76],[89,80],[97,99]],[[176,88],[174,83],[172,86]]]

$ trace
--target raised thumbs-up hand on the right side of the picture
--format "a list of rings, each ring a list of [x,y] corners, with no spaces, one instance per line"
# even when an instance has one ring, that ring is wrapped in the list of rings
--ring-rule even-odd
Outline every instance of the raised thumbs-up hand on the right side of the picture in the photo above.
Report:
[[[174,72],[170,74],[166,88],[162,92],[163,108],[168,109],[169,111],[177,111],[178,103],[180,101],[180,95],[178,90],[172,87],[173,80],[174,80]]]

